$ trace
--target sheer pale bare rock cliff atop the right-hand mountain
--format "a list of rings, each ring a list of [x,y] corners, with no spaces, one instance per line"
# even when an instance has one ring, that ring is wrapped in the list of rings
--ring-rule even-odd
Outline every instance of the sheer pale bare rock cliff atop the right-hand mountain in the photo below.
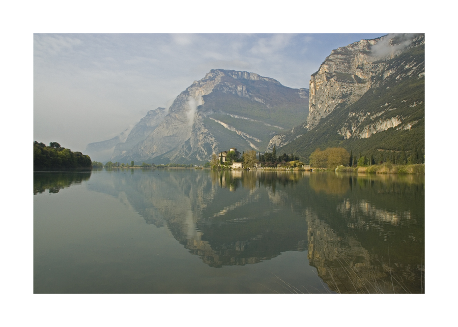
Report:
[[[398,73],[397,79],[415,74],[422,63],[405,63],[402,72],[388,68],[388,61],[411,46],[424,43],[423,35],[387,35],[374,40],[361,40],[333,50],[320,69],[310,77],[309,115],[304,127],[317,126],[338,105],[359,100],[371,87]],[[422,71],[416,72],[424,75]]]

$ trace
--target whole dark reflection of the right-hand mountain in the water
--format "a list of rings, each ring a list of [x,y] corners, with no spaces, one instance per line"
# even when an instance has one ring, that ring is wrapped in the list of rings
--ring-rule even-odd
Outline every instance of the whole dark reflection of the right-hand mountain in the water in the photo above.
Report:
[[[424,177],[339,177],[345,194],[310,193],[310,264],[337,292],[423,292]]]

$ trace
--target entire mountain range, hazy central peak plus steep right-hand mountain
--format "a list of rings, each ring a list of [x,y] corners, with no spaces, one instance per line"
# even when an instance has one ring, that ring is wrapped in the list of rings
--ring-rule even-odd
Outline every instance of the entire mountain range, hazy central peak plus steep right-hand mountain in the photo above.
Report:
[[[169,108],[151,110],[115,138],[90,143],[93,160],[204,163],[238,151],[294,153],[318,147],[364,154],[424,153],[424,35],[387,35],[333,50],[290,88],[255,73],[214,69]]]

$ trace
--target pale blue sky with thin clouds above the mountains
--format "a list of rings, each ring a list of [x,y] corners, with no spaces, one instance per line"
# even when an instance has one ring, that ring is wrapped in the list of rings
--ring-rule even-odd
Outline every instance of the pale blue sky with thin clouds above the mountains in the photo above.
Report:
[[[169,106],[211,69],[308,88],[333,49],[385,34],[36,33],[34,140],[84,153]]]

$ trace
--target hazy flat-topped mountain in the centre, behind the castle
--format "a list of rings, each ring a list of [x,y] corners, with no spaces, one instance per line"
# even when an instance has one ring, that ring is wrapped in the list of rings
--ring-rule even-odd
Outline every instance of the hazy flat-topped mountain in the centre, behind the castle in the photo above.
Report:
[[[305,88],[255,73],[211,70],[168,109],[142,118],[110,160],[189,163],[208,161],[230,147],[265,151],[273,134],[305,120],[307,107]]]

